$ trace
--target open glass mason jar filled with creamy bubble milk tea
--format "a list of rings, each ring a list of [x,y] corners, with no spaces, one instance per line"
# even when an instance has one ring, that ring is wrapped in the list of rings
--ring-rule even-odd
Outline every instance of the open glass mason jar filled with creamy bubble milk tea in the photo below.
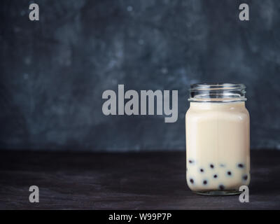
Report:
[[[186,113],[187,183],[232,195],[250,182],[250,118],[243,84],[195,84]]]

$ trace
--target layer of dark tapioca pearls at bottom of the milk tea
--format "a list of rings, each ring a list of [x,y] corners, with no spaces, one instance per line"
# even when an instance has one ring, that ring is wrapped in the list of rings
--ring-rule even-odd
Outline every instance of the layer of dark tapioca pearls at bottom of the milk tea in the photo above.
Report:
[[[188,160],[188,186],[191,190],[229,190],[248,185],[249,171],[242,162],[235,166],[226,163],[211,163],[208,166],[196,165]]]

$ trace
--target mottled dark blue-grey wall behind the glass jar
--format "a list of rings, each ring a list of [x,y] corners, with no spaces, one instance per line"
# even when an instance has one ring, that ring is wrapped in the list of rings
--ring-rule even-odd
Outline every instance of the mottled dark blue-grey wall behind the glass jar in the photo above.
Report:
[[[0,148],[185,148],[188,87],[248,87],[251,148],[280,149],[280,1],[0,3]],[[249,3],[250,21],[238,19]],[[179,90],[179,119],[104,116],[102,92]]]

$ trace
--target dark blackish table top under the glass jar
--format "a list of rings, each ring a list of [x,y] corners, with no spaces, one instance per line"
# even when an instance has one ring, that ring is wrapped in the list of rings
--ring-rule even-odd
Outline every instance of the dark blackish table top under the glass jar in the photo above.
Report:
[[[280,151],[251,151],[250,202],[240,203],[192,193],[183,152],[0,151],[0,209],[280,209],[279,161]]]

